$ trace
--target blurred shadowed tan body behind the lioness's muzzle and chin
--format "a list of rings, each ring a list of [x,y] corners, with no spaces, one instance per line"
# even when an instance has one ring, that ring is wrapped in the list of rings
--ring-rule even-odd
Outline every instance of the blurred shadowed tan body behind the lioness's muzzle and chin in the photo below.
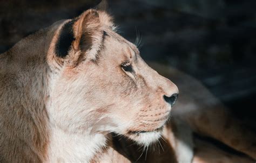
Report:
[[[138,158],[138,162],[177,162],[176,158],[186,157],[186,155],[177,151],[177,143],[179,140],[177,130],[180,130],[180,126],[177,126],[176,121],[178,118],[189,125],[194,132],[215,138],[231,148],[234,148],[234,150],[249,156],[230,153],[215,146],[210,141],[193,138],[195,152],[191,162],[255,162],[253,161],[256,151],[255,146],[253,146],[256,142],[255,134],[246,128],[241,129],[242,122],[238,120],[235,121],[236,119],[230,116],[227,108],[209,93],[201,83],[177,69],[157,63],[150,63],[150,66],[175,81],[180,91],[179,100],[172,110],[171,121],[167,123],[163,131],[165,140],[160,141],[163,148],[160,144],[152,145],[147,152],[143,153],[142,147],[133,145],[128,140],[120,139],[117,146],[122,147],[117,148],[116,151],[122,151],[120,154],[126,156],[130,154],[127,158],[129,158],[131,162],[136,161]],[[201,116],[203,114],[204,116]],[[218,116],[218,118],[216,116]],[[227,123],[229,125],[225,125]],[[230,133],[227,128],[231,128],[233,132]],[[236,143],[229,144],[228,142],[234,138],[237,138],[239,143],[234,141]],[[243,145],[244,148],[239,148],[238,145]],[[179,156],[179,154],[181,155]],[[122,162],[122,160],[120,162]]]

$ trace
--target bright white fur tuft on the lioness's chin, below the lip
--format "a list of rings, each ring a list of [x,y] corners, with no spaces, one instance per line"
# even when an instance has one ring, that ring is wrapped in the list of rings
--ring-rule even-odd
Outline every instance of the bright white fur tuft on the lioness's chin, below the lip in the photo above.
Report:
[[[151,143],[154,143],[161,137],[161,132],[152,131],[152,132],[143,132],[138,133],[136,138],[133,138],[138,144],[149,146]]]

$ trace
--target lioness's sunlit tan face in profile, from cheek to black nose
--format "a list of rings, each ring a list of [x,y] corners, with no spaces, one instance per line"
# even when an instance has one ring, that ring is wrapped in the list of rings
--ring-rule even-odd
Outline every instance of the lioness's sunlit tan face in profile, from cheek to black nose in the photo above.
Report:
[[[106,23],[105,13],[95,12],[85,12],[84,18],[79,18],[83,22],[90,18],[86,15],[92,15],[93,21],[99,19],[95,33],[82,32],[92,37],[82,35],[76,44],[81,30],[76,30],[78,19],[72,25],[75,41],[68,54],[56,56],[57,64],[49,61],[60,65],[52,75],[50,118],[67,132],[115,132],[149,145],[160,137],[178,88],[147,66],[137,47]],[[90,39],[91,44],[82,39]],[[53,41],[52,46],[56,45]]]

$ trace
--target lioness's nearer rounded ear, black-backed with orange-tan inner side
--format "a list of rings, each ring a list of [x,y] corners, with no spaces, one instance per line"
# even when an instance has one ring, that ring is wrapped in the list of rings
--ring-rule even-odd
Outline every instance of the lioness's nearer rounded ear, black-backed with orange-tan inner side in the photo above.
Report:
[[[86,10],[82,15],[62,26],[55,52],[60,58],[66,58],[70,52],[87,52],[97,43],[95,39],[100,36],[99,13],[93,9]]]

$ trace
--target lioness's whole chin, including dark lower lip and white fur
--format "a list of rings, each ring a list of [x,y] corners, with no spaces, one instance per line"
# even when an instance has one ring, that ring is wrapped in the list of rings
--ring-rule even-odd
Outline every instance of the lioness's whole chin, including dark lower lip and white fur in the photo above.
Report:
[[[138,131],[138,132],[130,132],[127,136],[136,141],[139,145],[149,146],[151,143],[157,141],[162,134],[162,128],[154,130],[154,131]]]

